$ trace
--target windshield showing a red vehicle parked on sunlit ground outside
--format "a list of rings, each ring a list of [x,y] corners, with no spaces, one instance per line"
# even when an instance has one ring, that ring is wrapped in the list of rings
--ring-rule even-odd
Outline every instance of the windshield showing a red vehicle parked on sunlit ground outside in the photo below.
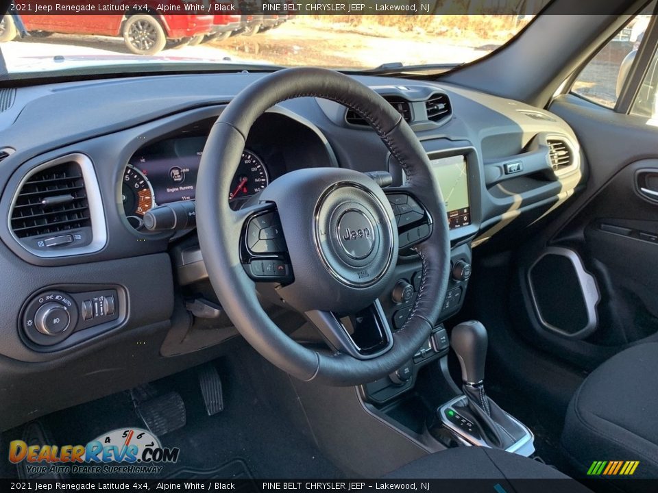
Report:
[[[188,8],[202,3],[191,1],[194,3],[187,0],[182,5]],[[424,5],[406,3],[420,9]],[[302,4],[285,4],[293,7],[277,14],[245,14],[249,11],[230,3],[221,5],[237,13],[164,13],[175,2],[158,4],[160,11],[87,13],[99,12],[103,6],[120,8],[123,3],[117,0],[68,5],[95,7],[77,12],[53,4],[63,10],[36,14],[35,5],[14,3],[14,14],[2,18],[0,49],[5,78],[51,71],[95,73],[110,67],[120,72],[128,66],[138,66],[142,72],[234,65],[260,66],[261,70],[275,65],[357,71],[378,67],[418,70],[422,66],[446,71],[498,49],[533,18],[522,14],[293,14],[294,5]],[[263,5],[258,12],[263,12]],[[304,6],[308,8],[308,4]]]

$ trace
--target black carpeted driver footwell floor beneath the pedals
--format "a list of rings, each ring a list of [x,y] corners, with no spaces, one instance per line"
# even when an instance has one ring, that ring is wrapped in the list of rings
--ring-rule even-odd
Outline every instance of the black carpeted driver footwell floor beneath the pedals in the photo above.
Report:
[[[343,473],[323,457],[286,416],[254,390],[241,368],[244,363],[241,361],[240,355],[233,355],[215,362],[224,384],[225,407],[213,416],[206,412],[196,368],[152,383],[161,393],[178,392],[186,407],[186,425],[158,437],[162,446],[180,448],[178,462],[165,464],[158,477],[343,477]],[[53,443],[59,445],[86,444],[114,429],[145,428],[135,412],[130,392],[65,409],[40,421],[52,435]],[[124,476],[155,479],[154,475]]]

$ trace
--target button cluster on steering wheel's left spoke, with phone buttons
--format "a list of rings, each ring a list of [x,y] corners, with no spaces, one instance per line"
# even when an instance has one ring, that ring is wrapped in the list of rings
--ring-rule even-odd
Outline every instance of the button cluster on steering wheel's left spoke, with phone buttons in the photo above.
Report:
[[[294,281],[281,220],[272,203],[235,212],[241,225],[240,262],[255,282],[289,284]]]

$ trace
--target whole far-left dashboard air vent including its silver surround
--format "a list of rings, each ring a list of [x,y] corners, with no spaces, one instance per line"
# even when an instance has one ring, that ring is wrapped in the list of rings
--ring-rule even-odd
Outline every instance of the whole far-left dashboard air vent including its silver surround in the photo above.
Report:
[[[107,240],[94,166],[71,154],[41,164],[21,180],[9,227],[23,249],[39,257],[93,253]]]

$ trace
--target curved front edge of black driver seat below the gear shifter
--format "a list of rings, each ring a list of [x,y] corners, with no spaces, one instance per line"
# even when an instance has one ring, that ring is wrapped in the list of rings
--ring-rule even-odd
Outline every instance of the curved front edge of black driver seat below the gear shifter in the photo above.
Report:
[[[523,480],[569,479],[569,477],[546,464],[521,455],[494,448],[457,447],[421,457],[398,470],[389,472],[384,479]],[[500,484],[504,488],[504,483]],[[569,481],[568,484],[574,486],[573,490],[568,491],[588,491],[575,481]],[[518,490],[515,488],[507,491]]]

